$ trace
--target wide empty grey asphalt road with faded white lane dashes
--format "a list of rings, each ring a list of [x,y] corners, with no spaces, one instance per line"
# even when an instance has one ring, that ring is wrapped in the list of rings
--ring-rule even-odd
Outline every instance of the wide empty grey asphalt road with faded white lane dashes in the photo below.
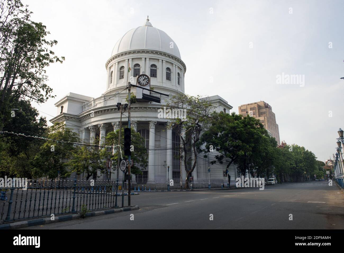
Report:
[[[136,211],[27,229],[344,229],[344,194],[336,185],[321,181],[258,189],[141,192],[131,197],[140,206]]]

